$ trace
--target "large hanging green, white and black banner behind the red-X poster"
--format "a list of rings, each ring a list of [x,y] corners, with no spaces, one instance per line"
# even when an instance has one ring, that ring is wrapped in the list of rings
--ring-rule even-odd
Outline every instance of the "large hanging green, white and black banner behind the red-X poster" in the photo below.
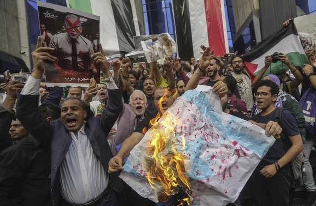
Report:
[[[134,0],[66,0],[67,6],[100,16],[100,42],[106,56],[133,51],[133,36],[144,30],[141,2]],[[143,18],[143,17],[142,17]],[[95,37],[95,36],[93,36]]]

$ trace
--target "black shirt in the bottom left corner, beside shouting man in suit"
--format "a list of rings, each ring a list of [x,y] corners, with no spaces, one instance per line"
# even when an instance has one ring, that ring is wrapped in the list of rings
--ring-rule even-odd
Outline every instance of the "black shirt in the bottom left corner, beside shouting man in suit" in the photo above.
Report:
[[[50,149],[31,136],[0,153],[0,205],[49,206]]]

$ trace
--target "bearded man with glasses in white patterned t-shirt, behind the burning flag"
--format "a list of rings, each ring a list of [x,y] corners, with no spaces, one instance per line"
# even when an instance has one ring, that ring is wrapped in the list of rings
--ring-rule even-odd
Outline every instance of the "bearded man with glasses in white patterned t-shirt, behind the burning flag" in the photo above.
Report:
[[[231,64],[234,71],[228,75],[234,76],[234,78],[237,80],[237,89],[240,99],[246,103],[247,110],[251,111],[251,107],[253,105],[251,81],[248,74],[244,72],[244,60],[241,56],[237,55],[232,58]]]

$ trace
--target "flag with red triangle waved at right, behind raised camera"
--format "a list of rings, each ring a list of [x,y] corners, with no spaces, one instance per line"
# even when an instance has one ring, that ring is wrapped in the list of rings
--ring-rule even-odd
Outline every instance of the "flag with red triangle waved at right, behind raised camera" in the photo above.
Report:
[[[276,31],[276,33],[271,34],[256,47],[243,55],[245,69],[247,70],[251,81],[254,79],[254,76],[264,68],[265,57],[272,55],[275,52],[285,54],[294,66],[303,68],[304,64],[308,64],[308,59],[301,45],[296,27],[292,21],[288,26],[282,27],[280,30]],[[264,75],[277,74],[286,71],[287,69],[286,65],[278,61],[277,63],[271,63]]]

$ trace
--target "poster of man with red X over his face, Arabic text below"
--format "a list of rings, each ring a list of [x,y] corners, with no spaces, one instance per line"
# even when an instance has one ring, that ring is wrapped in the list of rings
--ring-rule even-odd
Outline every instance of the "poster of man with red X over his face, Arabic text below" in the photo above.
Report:
[[[47,86],[88,87],[100,81],[100,68],[90,58],[98,42],[98,16],[38,1],[42,46],[54,48],[56,62],[44,62]],[[95,45],[97,47],[97,45]]]

